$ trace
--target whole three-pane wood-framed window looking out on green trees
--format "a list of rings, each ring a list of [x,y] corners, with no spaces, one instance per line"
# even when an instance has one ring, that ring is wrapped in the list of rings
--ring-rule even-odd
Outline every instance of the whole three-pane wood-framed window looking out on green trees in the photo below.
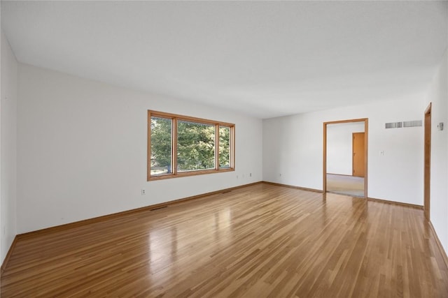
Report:
[[[235,124],[148,111],[148,181],[235,170]]]

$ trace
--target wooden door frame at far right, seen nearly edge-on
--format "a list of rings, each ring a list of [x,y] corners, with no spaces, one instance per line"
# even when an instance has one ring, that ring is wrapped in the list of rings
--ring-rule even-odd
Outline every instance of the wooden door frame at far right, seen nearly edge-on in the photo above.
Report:
[[[426,219],[430,220],[430,181],[431,181],[431,108],[433,103],[429,103],[425,110],[424,121],[424,156],[423,156],[423,213]],[[429,128],[426,130],[426,117],[429,117]],[[429,148],[426,149],[426,141],[429,142]],[[429,161],[428,171],[426,170],[426,158]],[[428,198],[426,198],[426,193],[428,193]]]

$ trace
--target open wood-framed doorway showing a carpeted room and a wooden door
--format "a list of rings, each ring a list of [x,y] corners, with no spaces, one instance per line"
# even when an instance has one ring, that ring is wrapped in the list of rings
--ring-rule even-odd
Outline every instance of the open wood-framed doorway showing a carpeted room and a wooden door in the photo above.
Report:
[[[323,123],[323,192],[367,198],[368,119]]]

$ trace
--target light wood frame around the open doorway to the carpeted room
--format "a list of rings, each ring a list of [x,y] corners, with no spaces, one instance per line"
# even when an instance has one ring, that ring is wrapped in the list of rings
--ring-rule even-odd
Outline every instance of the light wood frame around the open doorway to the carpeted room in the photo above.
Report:
[[[367,199],[367,176],[368,176],[368,139],[369,139],[369,119],[349,119],[339,121],[323,122],[323,193],[327,193],[327,125],[328,124],[342,124],[352,122],[364,122],[364,198]]]

